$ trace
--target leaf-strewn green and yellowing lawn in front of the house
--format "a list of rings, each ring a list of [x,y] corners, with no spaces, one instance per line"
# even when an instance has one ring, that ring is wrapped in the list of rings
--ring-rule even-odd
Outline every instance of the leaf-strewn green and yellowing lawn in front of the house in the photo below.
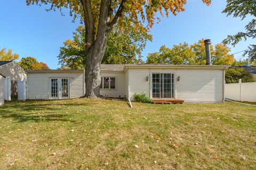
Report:
[[[256,169],[256,107],[74,99],[0,107],[0,169]]]

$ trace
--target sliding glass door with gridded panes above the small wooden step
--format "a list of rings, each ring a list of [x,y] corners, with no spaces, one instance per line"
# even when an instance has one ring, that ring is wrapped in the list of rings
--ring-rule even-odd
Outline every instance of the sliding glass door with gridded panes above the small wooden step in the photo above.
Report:
[[[152,74],[152,97],[174,98],[174,74],[153,73]]]

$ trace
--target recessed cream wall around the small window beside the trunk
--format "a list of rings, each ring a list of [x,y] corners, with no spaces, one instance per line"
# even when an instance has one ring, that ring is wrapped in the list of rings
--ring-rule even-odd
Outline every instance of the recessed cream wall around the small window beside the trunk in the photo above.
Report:
[[[114,77],[115,78],[115,89],[113,88],[101,88],[100,94],[105,97],[122,98],[125,96],[125,74],[124,72],[107,72],[101,71],[101,77]]]

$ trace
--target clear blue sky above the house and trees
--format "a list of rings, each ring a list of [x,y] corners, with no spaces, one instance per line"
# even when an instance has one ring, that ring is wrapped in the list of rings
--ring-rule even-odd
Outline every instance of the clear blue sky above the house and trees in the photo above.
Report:
[[[46,12],[46,6],[26,6],[25,0],[0,1],[1,25],[0,47],[11,48],[23,56],[34,56],[45,62],[51,69],[58,68],[60,47],[80,25],[79,20],[72,23],[67,14],[61,16],[59,11]],[[251,18],[241,21],[239,18],[226,17],[221,13],[226,1],[213,0],[207,7],[201,0],[188,0],[186,11],[176,17],[162,18],[162,21],[151,29],[153,42],[148,42],[142,55],[146,60],[148,53],[158,51],[159,47],[187,42],[193,44],[201,38],[209,38],[213,44],[222,42],[228,34],[243,31]],[[64,10],[67,12],[67,10]],[[254,40],[255,41],[255,40]],[[231,47],[231,53],[247,49],[252,39],[240,42]],[[235,55],[241,58],[242,53]]]

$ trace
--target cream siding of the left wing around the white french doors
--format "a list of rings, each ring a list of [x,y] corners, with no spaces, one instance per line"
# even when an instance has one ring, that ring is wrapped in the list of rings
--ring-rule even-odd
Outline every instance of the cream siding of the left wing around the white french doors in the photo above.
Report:
[[[84,72],[36,72],[28,73],[28,99],[49,99],[50,78],[68,78],[70,99],[84,95]]]

